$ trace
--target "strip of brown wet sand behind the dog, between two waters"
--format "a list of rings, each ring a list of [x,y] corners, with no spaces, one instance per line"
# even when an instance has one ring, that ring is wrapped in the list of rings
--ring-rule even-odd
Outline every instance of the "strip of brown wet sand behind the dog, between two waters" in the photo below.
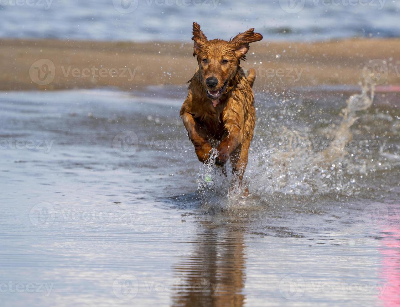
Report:
[[[0,52],[0,90],[114,86],[129,91],[145,86],[186,86],[185,82],[196,68],[190,41],[138,43],[3,39],[0,40]],[[399,86],[399,58],[399,39],[354,39],[312,44],[263,41],[251,45],[248,60],[242,65],[256,68],[256,90],[282,90],[321,84],[356,85],[364,82],[362,69],[368,61],[380,59],[388,65],[388,76],[382,85]],[[54,64],[54,80],[37,82],[35,75],[38,70],[31,68],[36,61],[39,61],[36,66],[42,69],[42,78],[46,71],[51,72],[51,67],[43,70],[43,59]]]

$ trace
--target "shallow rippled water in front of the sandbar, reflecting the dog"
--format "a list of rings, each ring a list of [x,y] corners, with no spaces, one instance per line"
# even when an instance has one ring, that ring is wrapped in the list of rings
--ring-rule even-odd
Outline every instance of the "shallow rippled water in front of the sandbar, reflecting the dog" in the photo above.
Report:
[[[315,165],[350,94],[256,94],[243,198],[183,89],[0,93],[2,304],[398,305],[399,94]]]

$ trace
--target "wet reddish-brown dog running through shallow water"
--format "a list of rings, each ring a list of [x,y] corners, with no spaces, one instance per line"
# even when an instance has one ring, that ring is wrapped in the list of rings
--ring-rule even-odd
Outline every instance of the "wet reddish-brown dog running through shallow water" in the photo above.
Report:
[[[216,165],[224,166],[230,158],[232,173],[241,183],[255,126],[256,71],[251,68],[246,76],[240,60],[246,60],[249,44],[262,35],[252,28],[229,41],[208,40],[194,22],[192,40],[198,68],[188,81],[180,116],[198,159],[204,163],[216,147]]]

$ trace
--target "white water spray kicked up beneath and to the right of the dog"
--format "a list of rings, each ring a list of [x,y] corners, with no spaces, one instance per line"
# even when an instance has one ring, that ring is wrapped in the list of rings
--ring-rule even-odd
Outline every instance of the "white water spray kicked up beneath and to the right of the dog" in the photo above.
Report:
[[[346,100],[346,106],[340,114],[334,108],[320,110],[320,121],[324,120],[324,124],[312,117],[308,122],[311,112],[306,109],[307,106],[297,102],[291,104],[290,100],[272,110],[260,110],[256,126],[258,131],[255,133],[257,138],[250,148],[245,173],[250,190],[247,204],[252,201],[257,205],[271,203],[276,201],[277,196],[284,195],[306,199],[323,195],[346,197],[373,189],[366,177],[376,170],[384,171],[390,165],[376,159],[378,151],[360,146],[353,148],[350,144],[360,142],[360,136],[363,135],[361,123],[371,128],[378,118],[379,114],[369,110],[374,96],[373,87],[362,86],[360,94],[353,94]],[[301,117],[301,108],[304,108],[303,114],[307,117]],[[332,119],[337,116],[340,118],[338,123]],[[362,120],[358,121],[359,116]],[[273,117],[277,119],[272,124]],[[365,122],[368,117],[373,118],[372,121]],[[354,125],[356,122],[357,126]],[[354,133],[358,138],[356,140]],[[395,156],[390,157],[396,160]],[[242,198],[232,193],[240,189],[230,186],[230,172],[226,176],[214,166],[215,157],[216,152],[213,152],[212,159],[199,171],[198,193],[204,203],[224,204],[224,207],[234,206],[233,203],[237,205],[238,201],[241,203]],[[230,165],[227,165],[227,169],[230,170]]]

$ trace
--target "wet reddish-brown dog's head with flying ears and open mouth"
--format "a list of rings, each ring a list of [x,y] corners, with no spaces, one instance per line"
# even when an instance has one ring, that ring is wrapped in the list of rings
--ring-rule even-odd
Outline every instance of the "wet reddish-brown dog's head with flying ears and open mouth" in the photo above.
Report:
[[[246,60],[249,44],[262,40],[262,35],[254,33],[252,28],[239,33],[229,42],[220,39],[208,40],[200,30],[200,25],[193,22],[192,40],[194,40],[193,56],[197,56],[202,84],[207,97],[214,104],[214,100],[218,101],[229,81],[234,78],[240,67],[240,60]]]

